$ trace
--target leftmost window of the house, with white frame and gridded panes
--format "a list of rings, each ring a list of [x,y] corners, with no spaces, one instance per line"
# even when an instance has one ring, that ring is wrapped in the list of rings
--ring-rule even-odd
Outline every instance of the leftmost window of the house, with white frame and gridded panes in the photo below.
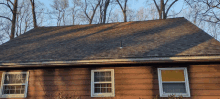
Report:
[[[1,97],[26,97],[28,72],[4,72],[1,83]]]

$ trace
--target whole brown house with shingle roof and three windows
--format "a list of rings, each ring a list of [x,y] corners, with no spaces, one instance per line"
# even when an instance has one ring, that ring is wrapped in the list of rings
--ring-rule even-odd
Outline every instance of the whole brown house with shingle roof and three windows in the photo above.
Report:
[[[185,18],[38,27],[0,46],[1,98],[220,99],[220,42]]]

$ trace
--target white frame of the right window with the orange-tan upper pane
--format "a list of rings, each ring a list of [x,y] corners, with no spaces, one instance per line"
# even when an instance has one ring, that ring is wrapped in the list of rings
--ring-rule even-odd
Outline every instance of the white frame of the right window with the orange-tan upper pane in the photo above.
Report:
[[[161,76],[161,70],[184,70],[184,78],[185,78],[185,88],[186,88],[186,94],[183,93],[164,93],[163,92],[163,85],[162,85],[162,76]],[[160,97],[168,97],[168,95],[175,95],[175,97],[183,96],[183,97],[190,97],[190,88],[189,88],[189,80],[188,80],[188,74],[187,74],[187,68],[186,67],[175,67],[175,68],[157,68],[158,71],[158,82],[159,82],[159,93]],[[175,82],[170,82],[175,83]]]

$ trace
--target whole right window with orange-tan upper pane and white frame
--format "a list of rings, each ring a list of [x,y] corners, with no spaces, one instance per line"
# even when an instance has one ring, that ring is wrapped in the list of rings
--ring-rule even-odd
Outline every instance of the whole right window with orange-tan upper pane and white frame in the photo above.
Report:
[[[190,97],[187,68],[158,68],[160,97]]]

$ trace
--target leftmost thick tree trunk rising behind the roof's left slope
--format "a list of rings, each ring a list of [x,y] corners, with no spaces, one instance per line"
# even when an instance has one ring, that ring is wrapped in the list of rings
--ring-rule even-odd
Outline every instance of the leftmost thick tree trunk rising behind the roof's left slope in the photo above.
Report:
[[[16,24],[17,5],[18,5],[17,0],[14,0],[13,18],[12,18],[12,25],[11,25],[10,40],[14,39],[14,35],[15,35],[15,24]]]

